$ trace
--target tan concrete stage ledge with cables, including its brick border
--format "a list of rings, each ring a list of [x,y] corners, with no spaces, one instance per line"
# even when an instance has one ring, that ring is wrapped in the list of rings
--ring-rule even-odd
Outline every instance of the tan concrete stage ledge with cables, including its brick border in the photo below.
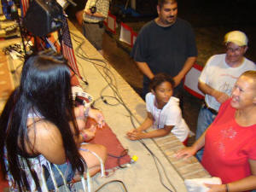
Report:
[[[128,191],[168,191],[160,183],[163,183],[172,191],[187,191],[183,184],[184,178],[209,177],[201,164],[194,158],[189,160],[177,160],[173,154],[177,149],[183,148],[176,137],[170,134],[167,137],[157,139],[146,139],[144,144],[150,148],[152,153],[160,160],[165,171],[160,168],[160,175],[154,164],[154,160],[142,143],[132,142],[125,137],[126,131],[133,128],[133,123],[138,125],[146,116],[145,102],[137,95],[135,90],[117,73],[113,67],[105,61],[96,49],[84,39],[82,34],[69,22],[70,32],[73,38],[73,47],[76,49],[76,57],[79,63],[79,71],[88,80],[84,90],[96,99],[96,108],[104,113],[108,125],[118,137],[124,148],[129,149],[129,154],[137,155],[135,164],[125,169],[119,169],[111,177],[101,178],[100,174],[93,178],[94,189],[110,180],[119,179],[125,183]],[[82,42],[84,42],[82,44]],[[82,44],[82,45],[80,45]],[[111,48],[109,48],[111,49]],[[83,54],[83,59],[81,56]],[[82,83],[81,83],[82,84]],[[101,96],[110,105],[102,101]],[[113,97],[119,97],[122,103],[115,105],[117,101]],[[128,110],[127,110],[128,109]],[[158,164],[159,166],[159,164]],[[166,177],[164,176],[166,172]],[[170,181],[168,183],[168,180]],[[102,191],[122,191],[119,183],[112,183]]]

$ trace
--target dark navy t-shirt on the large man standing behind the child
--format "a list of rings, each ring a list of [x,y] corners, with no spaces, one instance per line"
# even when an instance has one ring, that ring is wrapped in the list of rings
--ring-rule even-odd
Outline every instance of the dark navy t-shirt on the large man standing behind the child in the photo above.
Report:
[[[172,26],[159,26],[149,21],[137,36],[131,50],[134,61],[147,62],[151,71],[179,73],[190,56],[197,56],[195,34],[189,22],[177,18]]]

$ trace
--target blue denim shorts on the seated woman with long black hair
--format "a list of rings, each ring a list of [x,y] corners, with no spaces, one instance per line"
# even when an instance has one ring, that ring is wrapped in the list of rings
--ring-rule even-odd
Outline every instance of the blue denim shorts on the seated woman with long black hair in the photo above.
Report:
[[[70,182],[74,176],[74,172],[72,169],[72,166],[69,162],[61,164],[61,165],[56,165],[58,166],[58,168],[60,169],[60,171],[62,172],[64,178],[66,179],[67,183]],[[52,171],[54,173],[55,176],[55,181],[58,185],[58,187],[60,187],[61,185],[64,184],[63,179],[61,177],[61,174],[59,173],[59,171],[56,169],[56,167],[54,165],[51,165]],[[46,178],[46,184],[49,190],[53,190],[55,189],[54,183],[52,182],[51,177],[49,176],[49,171],[47,169],[45,169],[45,178]]]

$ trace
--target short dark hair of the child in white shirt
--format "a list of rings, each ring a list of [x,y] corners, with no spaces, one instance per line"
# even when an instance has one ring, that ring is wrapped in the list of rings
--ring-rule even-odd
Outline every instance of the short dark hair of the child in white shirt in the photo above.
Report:
[[[169,82],[172,84],[172,88],[174,88],[174,80],[172,79],[172,76],[167,73],[157,73],[154,78],[151,80],[149,84],[150,90],[155,90],[156,87],[164,82]]]

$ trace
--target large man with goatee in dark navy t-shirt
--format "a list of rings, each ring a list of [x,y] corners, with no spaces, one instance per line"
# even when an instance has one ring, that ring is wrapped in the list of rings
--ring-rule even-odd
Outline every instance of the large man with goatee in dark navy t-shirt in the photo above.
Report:
[[[143,98],[156,73],[169,73],[175,81],[174,96],[181,98],[181,81],[197,56],[195,35],[190,24],[177,18],[176,0],[159,0],[158,17],[138,34],[131,56],[144,74]]]

